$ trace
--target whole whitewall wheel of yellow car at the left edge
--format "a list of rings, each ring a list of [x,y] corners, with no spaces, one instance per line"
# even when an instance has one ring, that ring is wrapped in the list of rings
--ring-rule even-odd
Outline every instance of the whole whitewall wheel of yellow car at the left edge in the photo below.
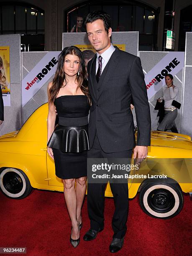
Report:
[[[0,172],[0,189],[7,197],[22,199],[30,194],[32,187],[23,171],[6,168]]]

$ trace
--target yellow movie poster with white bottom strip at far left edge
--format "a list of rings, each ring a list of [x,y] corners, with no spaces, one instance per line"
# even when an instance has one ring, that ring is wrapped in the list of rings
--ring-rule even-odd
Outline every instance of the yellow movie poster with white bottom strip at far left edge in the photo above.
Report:
[[[0,86],[4,106],[10,106],[10,56],[9,46],[0,46]]]

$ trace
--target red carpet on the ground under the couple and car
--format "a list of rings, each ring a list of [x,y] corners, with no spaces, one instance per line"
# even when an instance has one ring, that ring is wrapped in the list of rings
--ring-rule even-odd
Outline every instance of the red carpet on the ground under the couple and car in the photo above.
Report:
[[[23,200],[13,200],[0,193],[0,247],[27,247],[27,255],[112,255],[108,247],[113,236],[112,198],[105,199],[105,229],[94,241],[83,241],[89,229],[87,197],[82,209],[83,228],[77,248],[69,243],[70,220],[63,193],[33,190]],[[128,232],[122,250],[116,255],[184,256],[192,255],[192,201],[184,195],[182,212],[170,220],[146,215],[138,196],[130,200]]]

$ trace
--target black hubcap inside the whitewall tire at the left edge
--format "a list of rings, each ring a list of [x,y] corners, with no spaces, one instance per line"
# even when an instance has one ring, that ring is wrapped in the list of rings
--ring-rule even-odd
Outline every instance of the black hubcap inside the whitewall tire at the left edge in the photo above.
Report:
[[[23,181],[17,173],[7,172],[3,176],[3,186],[8,192],[18,194],[23,189]]]

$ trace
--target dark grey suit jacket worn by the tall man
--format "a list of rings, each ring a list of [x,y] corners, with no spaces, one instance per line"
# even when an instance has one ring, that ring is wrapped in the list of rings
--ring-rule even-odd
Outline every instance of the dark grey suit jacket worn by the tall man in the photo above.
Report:
[[[141,60],[115,48],[98,84],[95,78],[96,54],[87,66],[92,97],[90,147],[97,131],[102,150],[107,153],[125,151],[135,144],[149,146],[151,137],[150,109]],[[138,125],[137,143],[130,109],[131,99]]]

